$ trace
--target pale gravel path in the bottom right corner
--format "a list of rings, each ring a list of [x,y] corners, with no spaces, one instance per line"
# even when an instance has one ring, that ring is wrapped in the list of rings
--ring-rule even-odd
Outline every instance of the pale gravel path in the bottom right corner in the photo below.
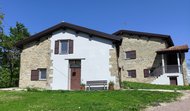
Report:
[[[182,91],[182,96],[178,101],[171,103],[161,103],[160,106],[150,107],[145,111],[190,111],[190,91]]]

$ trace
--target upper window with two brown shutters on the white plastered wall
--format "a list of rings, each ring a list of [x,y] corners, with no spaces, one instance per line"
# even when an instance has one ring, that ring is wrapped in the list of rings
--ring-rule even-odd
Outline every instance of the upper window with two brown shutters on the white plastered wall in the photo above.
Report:
[[[55,41],[55,54],[72,54],[73,40],[57,40]]]

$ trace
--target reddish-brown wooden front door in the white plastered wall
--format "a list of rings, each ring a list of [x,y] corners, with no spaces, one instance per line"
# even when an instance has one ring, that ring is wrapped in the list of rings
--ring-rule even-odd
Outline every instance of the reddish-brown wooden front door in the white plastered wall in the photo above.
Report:
[[[80,90],[81,68],[71,67],[71,90]]]

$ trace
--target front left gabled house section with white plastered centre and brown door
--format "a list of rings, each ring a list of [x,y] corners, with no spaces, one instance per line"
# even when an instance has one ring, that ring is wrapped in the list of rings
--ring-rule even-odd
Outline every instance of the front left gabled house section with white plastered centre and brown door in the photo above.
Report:
[[[117,66],[110,61],[116,61],[120,40],[66,22],[37,33],[17,44],[22,49],[19,87],[78,90],[87,81],[115,81],[117,72],[110,70]]]

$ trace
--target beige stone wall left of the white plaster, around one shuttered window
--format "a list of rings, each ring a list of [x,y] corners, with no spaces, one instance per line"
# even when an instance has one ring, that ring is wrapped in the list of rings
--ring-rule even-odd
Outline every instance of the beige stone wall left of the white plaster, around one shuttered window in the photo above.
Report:
[[[50,89],[50,40],[43,37],[39,41],[31,42],[23,47],[21,52],[21,67],[19,87],[38,87]],[[47,80],[31,81],[31,70],[47,69]]]

